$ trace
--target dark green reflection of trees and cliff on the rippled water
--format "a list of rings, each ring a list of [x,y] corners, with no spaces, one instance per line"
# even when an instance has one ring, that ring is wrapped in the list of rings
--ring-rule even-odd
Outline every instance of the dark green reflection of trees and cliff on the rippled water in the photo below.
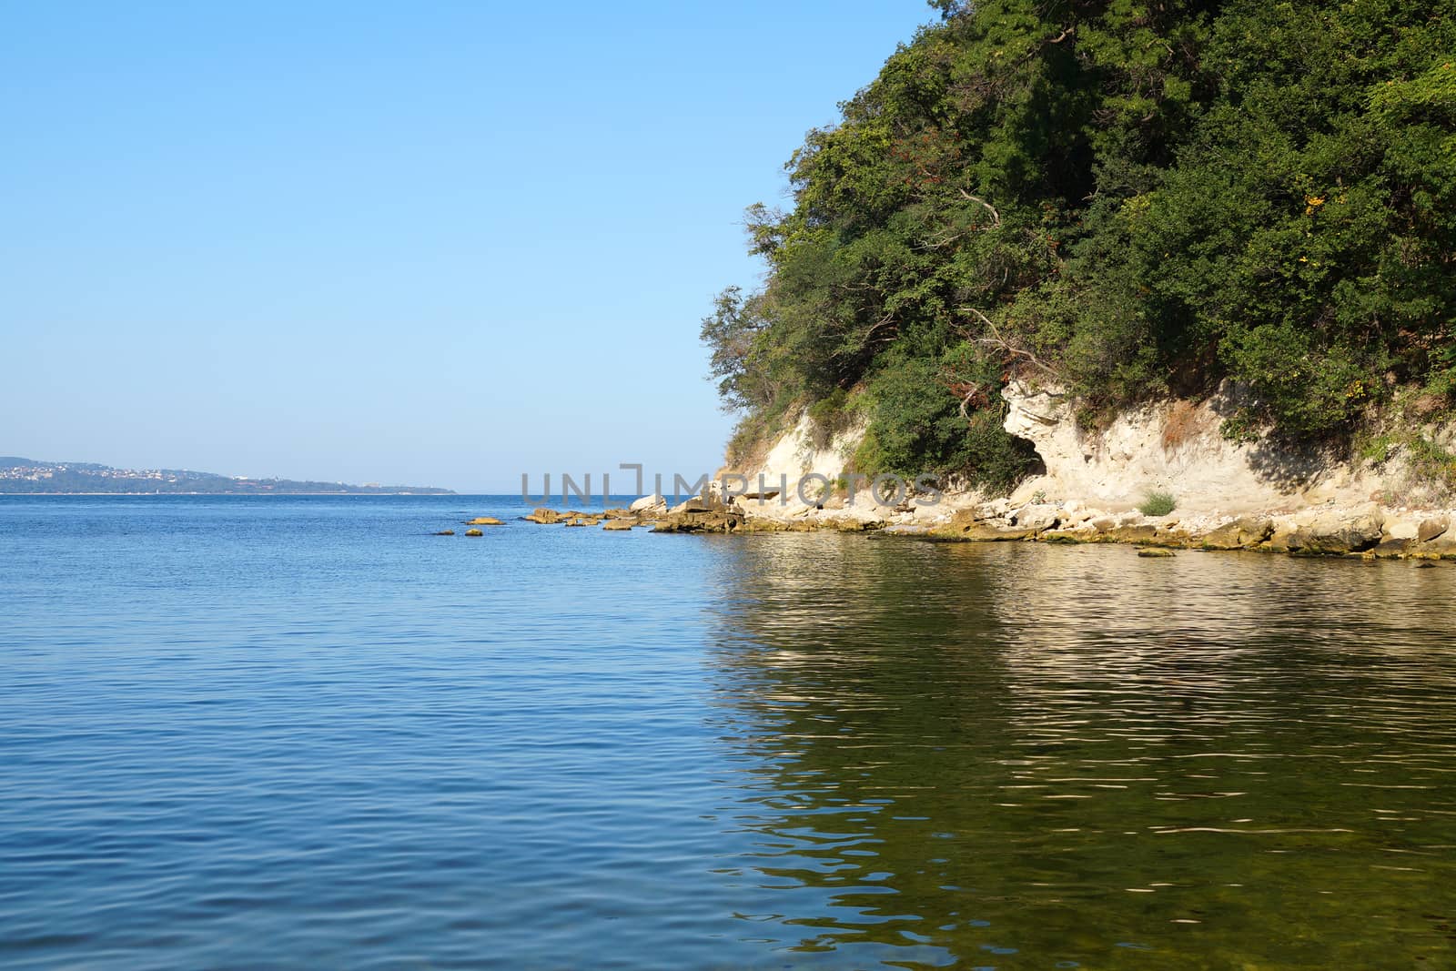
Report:
[[[1456,843],[1456,572],[1406,566],[738,543],[711,678],[744,916],[860,964],[1446,946],[1412,901],[1453,905],[1423,847]]]

